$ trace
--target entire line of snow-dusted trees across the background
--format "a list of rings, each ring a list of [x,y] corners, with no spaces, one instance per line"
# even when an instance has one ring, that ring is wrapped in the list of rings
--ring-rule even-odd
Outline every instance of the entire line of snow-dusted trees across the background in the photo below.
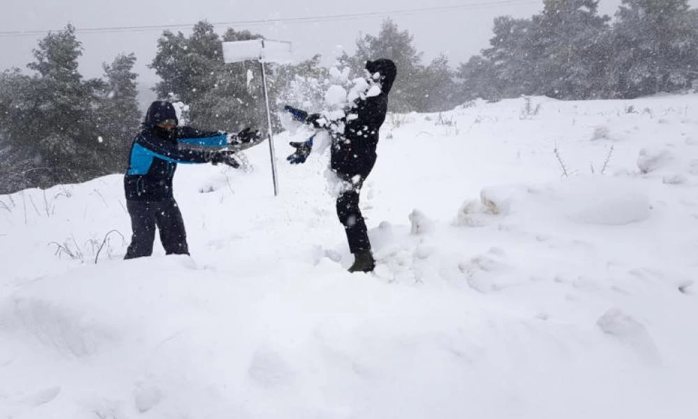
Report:
[[[623,0],[614,22],[598,14],[598,0],[543,5],[528,19],[497,17],[489,47],[456,70],[443,54],[424,64],[413,36],[392,20],[378,35],[359,37],[356,51],[337,64],[357,71],[366,59],[394,60],[395,112],[436,112],[473,98],[521,95],[633,98],[687,89],[698,78],[698,11],[688,0]],[[164,31],[149,64],[161,78],[154,90],[159,98],[188,104],[189,121],[202,128],[265,126],[258,64],[224,64],[221,45],[260,37],[234,29],[219,36],[208,22],[195,24],[188,36]],[[135,55],[121,54],[103,65],[102,78],[84,80],[77,70],[81,54],[68,24],[38,43],[27,65],[33,75],[17,68],[0,73],[0,193],[124,170],[140,124]],[[300,86],[309,101],[321,101],[322,80],[330,73],[321,62],[318,55],[271,66],[272,100],[288,103],[289,92]]]

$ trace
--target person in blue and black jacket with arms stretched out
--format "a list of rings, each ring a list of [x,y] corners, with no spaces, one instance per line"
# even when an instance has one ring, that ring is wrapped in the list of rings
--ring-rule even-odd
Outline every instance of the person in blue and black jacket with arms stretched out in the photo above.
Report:
[[[221,131],[199,131],[178,126],[172,103],[155,101],[145,115],[140,133],[136,135],[124,175],[126,208],[131,216],[133,236],[124,259],[150,256],[153,253],[155,228],[169,254],[189,254],[184,220],[172,194],[172,177],[177,163],[225,163],[238,167],[234,152],[219,151],[229,138],[250,141],[258,133],[244,130],[238,135]],[[205,146],[184,148],[184,145]],[[214,151],[210,148],[216,147]]]

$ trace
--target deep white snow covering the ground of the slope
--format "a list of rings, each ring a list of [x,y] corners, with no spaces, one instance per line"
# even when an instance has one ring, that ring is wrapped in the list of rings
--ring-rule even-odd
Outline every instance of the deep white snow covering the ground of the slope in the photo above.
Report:
[[[528,109],[389,117],[373,274],[303,138],[179,167],[191,258],[119,175],[0,196],[0,418],[695,418],[698,96]]]

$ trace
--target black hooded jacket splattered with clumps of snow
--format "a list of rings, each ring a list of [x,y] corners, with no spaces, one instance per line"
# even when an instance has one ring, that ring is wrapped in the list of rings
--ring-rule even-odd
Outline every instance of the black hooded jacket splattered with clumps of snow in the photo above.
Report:
[[[385,121],[388,110],[388,94],[397,75],[392,60],[381,58],[366,62],[366,70],[379,73],[380,94],[357,99],[346,113],[343,135],[335,135],[332,141],[331,168],[349,177],[367,175],[376,162],[378,130]],[[313,126],[320,128],[314,122]]]

